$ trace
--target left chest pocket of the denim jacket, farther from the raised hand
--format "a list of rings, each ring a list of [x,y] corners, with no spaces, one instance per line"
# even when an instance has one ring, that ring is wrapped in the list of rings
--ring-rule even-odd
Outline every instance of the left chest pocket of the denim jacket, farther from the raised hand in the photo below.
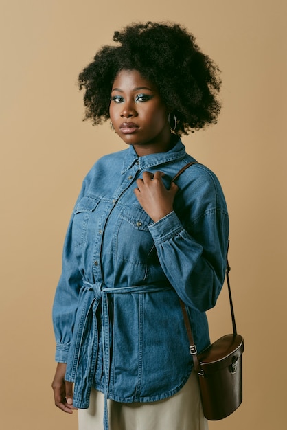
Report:
[[[87,235],[91,225],[91,215],[99,204],[97,199],[84,196],[73,210],[73,237],[78,246],[83,247],[87,240]]]

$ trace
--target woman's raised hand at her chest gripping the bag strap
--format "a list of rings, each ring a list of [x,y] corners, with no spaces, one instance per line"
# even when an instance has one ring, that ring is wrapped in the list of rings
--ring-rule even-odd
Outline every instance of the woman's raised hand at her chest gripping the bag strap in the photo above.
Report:
[[[155,172],[154,175],[143,172],[143,178],[137,179],[138,188],[135,188],[137,200],[154,223],[172,212],[174,196],[179,190],[174,182],[167,190],[161,179],[163,175],[163,172]]]

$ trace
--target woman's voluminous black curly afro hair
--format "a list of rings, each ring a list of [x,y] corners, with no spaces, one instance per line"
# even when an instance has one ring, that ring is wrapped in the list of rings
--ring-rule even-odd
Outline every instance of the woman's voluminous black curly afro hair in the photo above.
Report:
[[[194,36],[179,24],[135,23],[115,32],[78,77],[84,87],[84,120],[109,118],[111,87],[121,70],[137,70],[154,84],[176,115],[177,135],[215,124],[220,112],[221,80],[216,64],[203,54]]]

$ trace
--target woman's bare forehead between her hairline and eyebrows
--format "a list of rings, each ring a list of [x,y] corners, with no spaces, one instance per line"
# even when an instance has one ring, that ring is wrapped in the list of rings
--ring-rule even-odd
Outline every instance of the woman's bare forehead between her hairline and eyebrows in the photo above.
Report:
[[[137,70],[121,70],[117,73],[115,81],[113,82],[114,89],[122,89],[122,91],[134,91],[136,89],[150,89],[157,91],[157,88],[150,82],[150,80],[141,76]]]

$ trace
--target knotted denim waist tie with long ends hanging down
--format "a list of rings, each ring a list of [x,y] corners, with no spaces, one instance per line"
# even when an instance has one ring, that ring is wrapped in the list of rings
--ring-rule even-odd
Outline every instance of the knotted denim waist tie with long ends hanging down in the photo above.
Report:
[[[108,288],[101,282],[91,284],[83,282],[79,294],[79,305],[73,340],[70,351],[65,378],[74,383],[74,405],[85,409],[89,407],[89,398],[95,366],[97,363],[97,343],[99,333],[97,328],[97,313],[101,304],[103,366],[104,366],[104,430],[108,430],[108,388],[110,383],[110,319],[108,315],[108,294],[123,293],[155,293],[170,290],[171,286],[160,284],[126,286],[121,288]],[[73,344],[73,345],[72,345]],[[72,348],[73,347],[73,348]],[[81,350],[87,351],[83,357]],[[84,381],[84,383],[83,383]]]

